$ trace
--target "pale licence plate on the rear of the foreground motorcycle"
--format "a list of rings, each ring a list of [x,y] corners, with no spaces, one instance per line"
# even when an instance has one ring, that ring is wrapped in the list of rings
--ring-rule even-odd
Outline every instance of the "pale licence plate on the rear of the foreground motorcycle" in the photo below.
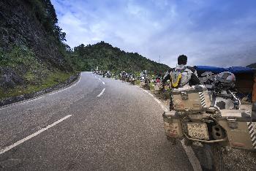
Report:
[[[192,138],[209,140],[206,123],[187,123],[187,131]]]

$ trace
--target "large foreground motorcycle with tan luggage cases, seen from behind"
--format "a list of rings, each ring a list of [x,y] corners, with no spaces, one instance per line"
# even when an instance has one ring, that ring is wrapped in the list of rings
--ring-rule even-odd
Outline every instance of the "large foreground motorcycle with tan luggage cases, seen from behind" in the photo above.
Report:
[[[255,122],[240,109],[233,91],[235,75],[205,75],[200,86],[172,89],[170,111],[163,113],[167,140],[192,146],[203,170],[223,170],[225,147],[256,149]]]

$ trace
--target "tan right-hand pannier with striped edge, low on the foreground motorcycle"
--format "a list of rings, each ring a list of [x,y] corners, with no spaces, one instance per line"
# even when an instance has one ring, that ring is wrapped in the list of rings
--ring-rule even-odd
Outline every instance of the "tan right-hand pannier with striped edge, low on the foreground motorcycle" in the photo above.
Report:
[[[230,146],[246,150],[256,150],[256,122],[246,110],[221,110],[221,118],[217,118],[227,134]]]

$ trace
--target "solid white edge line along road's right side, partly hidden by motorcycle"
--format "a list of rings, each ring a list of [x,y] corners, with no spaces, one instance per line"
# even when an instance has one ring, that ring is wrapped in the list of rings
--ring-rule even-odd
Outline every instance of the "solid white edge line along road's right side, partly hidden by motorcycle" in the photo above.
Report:
[[[136,86],[138,88],[140,88],[140,86]],[[157,99],[156,97],[154,97],[153,94],[149,93],[148,91],[144,90],[143,88],[140,88],[142,89],[143,91],[145,91],[149,96],[152,96],[153,99],[158,103],[160,104],[160,106],[162,107],[162,110],[164,110],[165,112],[167,112],[167,108],[165,107],[165,104],[162,104],[162,102],[159,101],[159,99]],[[189,146],[186,146],[184,144],[184,140],[181,140],[181,145],[182,147],[184,148],[184,151],[186,152],[187,154],[187,157],[189,158],[189,161],[193,167],[193,170],[198,170],[198,171],[202,171],[202,167],[200,165],[200,161],[197,159],[197,157],[195,156],[195,153],[194,151],[192,150],[191,147]]]

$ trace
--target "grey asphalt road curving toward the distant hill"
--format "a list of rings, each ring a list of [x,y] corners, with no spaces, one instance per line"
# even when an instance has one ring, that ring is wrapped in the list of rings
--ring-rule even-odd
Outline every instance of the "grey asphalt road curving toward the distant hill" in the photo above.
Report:
[[[141,88],[83,72],[78,83],[0,109],[0,170],[193,170]]]

